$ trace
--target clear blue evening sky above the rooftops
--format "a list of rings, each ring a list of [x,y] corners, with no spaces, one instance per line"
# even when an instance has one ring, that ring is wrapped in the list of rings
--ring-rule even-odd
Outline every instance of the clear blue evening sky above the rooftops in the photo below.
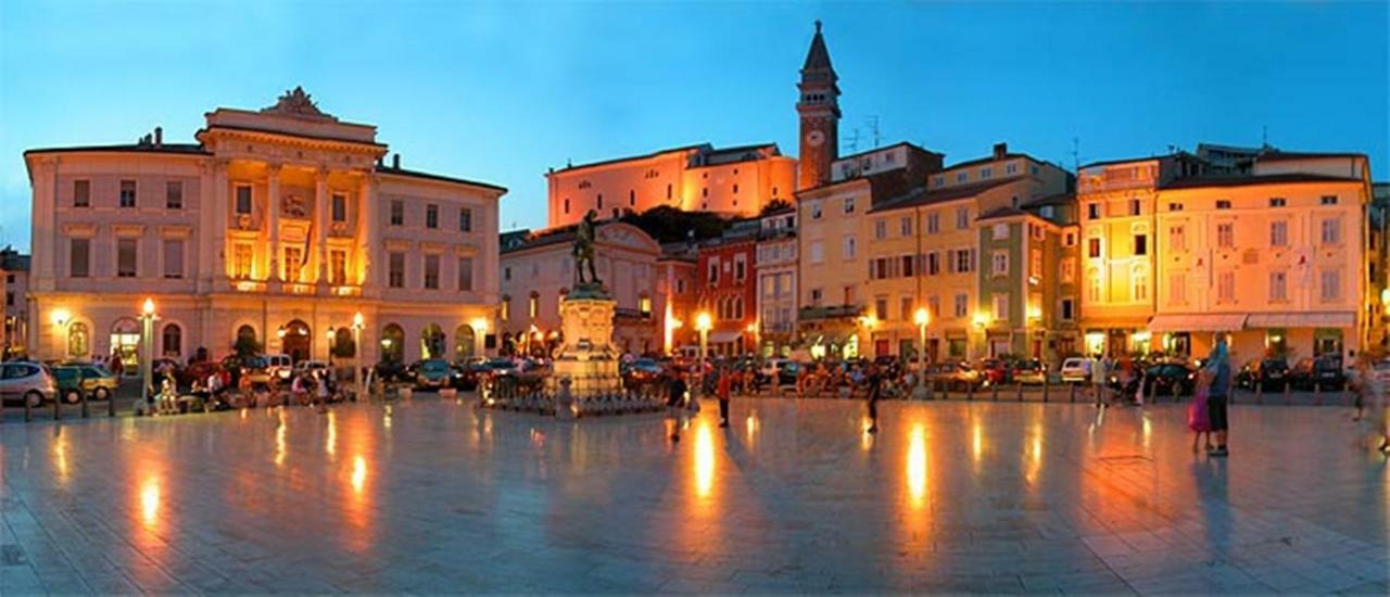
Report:
[[[1198,142],[1364,151],[1390,178],[1387,31],[1375,3],[899,4],[0,0],[0,243],[29,244],[28,147],[192,142],[218,106],[303,85],[378,125],[403,165],[510,189],[545,224],[548,167],[696,142],[796,153],[812,21],[840,85],[841,151],[995,142],[1066,165]]]

